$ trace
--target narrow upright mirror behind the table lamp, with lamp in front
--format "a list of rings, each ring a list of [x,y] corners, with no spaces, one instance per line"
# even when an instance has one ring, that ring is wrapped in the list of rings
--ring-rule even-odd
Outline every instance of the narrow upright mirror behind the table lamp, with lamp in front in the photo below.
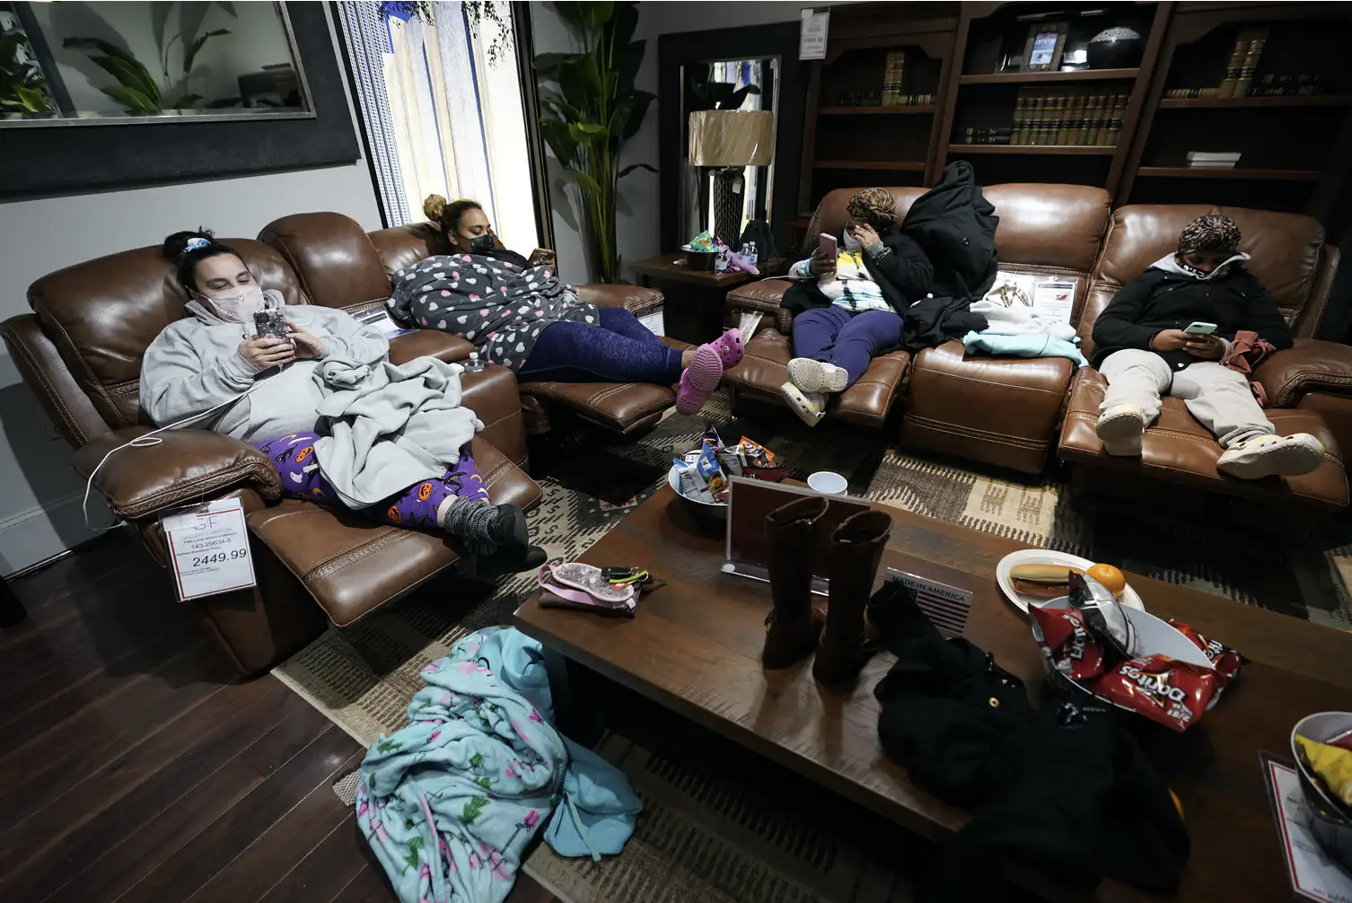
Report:
[[[704,230],[737,246],[769,222],[780,58],[681,65],[680,241]]]

